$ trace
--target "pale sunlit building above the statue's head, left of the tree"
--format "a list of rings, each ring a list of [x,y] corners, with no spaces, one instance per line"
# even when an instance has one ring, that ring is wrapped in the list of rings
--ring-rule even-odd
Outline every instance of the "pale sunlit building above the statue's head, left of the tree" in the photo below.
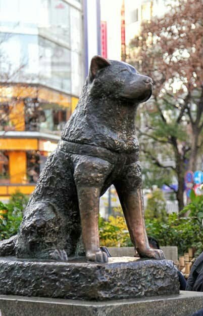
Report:
[[[141,22],[150,20],[156,15],[161,16],[167,11],[166,0],[100,0],[100,4],[102,29],[105,25],[107,37],[107,57],[117,60],[122,58],[123,38],[125,38],[126,55],[128,55],[131,39],[140,34]]]

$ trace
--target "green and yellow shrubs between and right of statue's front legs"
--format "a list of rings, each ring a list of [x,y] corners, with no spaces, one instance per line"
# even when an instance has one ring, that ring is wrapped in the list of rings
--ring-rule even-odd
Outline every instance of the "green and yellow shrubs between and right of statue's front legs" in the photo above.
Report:
[[[195,256],[203,251],[203,195],[191,193],[191,203],[182,214],[189,211],[187,217],[170,214],[167,220],[158,218],[145,220],[147,235],[156,238],[161,246],[177,246],[179,255],[194,248]],[[180,214],[181,215],[181,214]],[[109,218],[109,221],[99,219],[100,243],[107,247],[133,246],[123,217]]]

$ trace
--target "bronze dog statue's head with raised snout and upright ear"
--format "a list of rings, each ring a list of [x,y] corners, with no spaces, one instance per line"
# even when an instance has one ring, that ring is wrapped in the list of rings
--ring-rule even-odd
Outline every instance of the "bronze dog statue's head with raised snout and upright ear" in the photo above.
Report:
[[[89,69],[90,93],[96,97],[108,95],[141,103],[148,100],[153,89],[151,78],[121,61],[94,56]]]

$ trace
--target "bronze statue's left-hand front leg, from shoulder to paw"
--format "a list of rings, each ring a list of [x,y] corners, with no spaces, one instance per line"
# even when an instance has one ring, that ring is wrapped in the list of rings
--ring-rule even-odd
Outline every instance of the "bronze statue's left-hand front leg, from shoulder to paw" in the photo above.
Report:
[[[91,156],[81,156],[75,166],[82,239],[89,261],[108,261],[107,254],[99,248],[98,212],[100,192],[111,169],[109,162]]]

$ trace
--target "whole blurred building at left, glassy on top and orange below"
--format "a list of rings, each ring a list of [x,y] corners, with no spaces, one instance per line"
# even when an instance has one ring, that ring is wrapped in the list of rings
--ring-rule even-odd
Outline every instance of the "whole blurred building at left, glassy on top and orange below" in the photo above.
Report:
[[[80,0],[0,0],[0,197],[30,194],[84,83]]]

